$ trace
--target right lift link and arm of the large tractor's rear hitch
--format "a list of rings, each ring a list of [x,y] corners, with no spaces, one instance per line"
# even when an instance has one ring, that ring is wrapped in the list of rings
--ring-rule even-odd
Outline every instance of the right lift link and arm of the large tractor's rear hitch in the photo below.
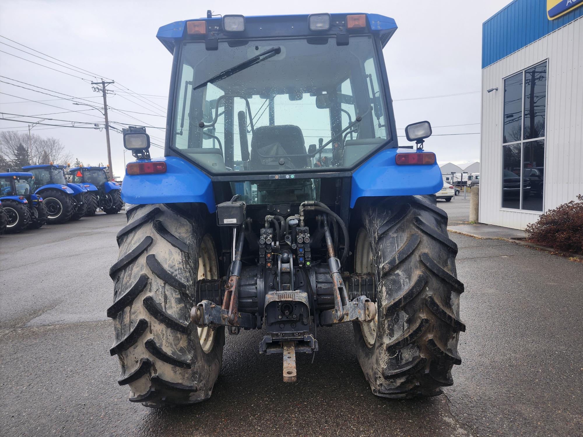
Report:
[[[326,248],[328,248],[328,266],[330,267],[330,276],[334,289],[334,309],[322,311],[320,314],[320,323],[325,326],[331,326],[335,323],[343,322],[370,322],[377,316],[377,307],[366,296],[359,296],[353,301],[348,301],[348,294],[342,274],[340,273],[340,260],[336,258],[332,235],[328,227],[328,220],[324,214],[324,235],[326,238]]]

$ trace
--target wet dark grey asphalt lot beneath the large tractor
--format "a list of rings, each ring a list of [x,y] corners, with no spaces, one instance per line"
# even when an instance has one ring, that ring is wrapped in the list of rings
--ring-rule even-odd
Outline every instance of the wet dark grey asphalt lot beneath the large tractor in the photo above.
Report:
[[[457,200],[438,206],[461,217]],[[467,330],[444,395],[375,397],[341,325],[318,329],[313,364],[298,355],[297,383],[282,382],[279,355],[258,354],[261,332],[241,332],[209,401],[129,403],[105,316],[124,223],[98,214],[0,236],[0,435],[583,435],[583,264],[458,234]]]

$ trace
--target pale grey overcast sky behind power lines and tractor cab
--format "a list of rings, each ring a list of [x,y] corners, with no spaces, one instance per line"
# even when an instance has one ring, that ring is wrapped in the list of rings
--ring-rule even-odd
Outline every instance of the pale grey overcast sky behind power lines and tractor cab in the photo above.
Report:
[[[394,18],[399,27],[384,49],[397,128],[404,128],[409,123],[421,120],[429,120],[433,126],[464,125],[435,127],[434,136],[426,142],[426,149],[437,153],[440,164],[448,161],[463,163],[479,160],[480,136],[438,134],[480,131],[482,23],[509,1],[364,1],[359,2],[359,7],[356,8],[354,2],[317,3],[313,0],[282,3],[259,0],[245,2],[246,4],[241,1],[222,1],[204,5],[195,1],[117,0],[96,3],[79,0],[0,0],[0,35],[99,75],[98,77],[115,80],[115,86],[108,87],[115,92],[115,95],[108,97],[108,106],[115,108],[110,111],[110,121],[165,126],[167,101],[164,96],[168,95],[171,55],[156,39],[157,29],[163,24],[206,16],[206,9],[223,15],[317,12],[370,12],[386,15]],[[48,94],[58,91],[85,98],[86,100],[82,100],[84,103],[94,102],[94,105],[103,107],[101,94],[95,93],[89,83],[95,79],[90,73],[73,72],[44,62],[9,47],[6,44],[42,56],[5,38],[0,38],[0,43],[3,43],[0,44],[0,50],[3,51],[0,52],[1,76],[51,91],[6,80],[4,77],[0,77],[0,80]],[[79,77],[52,71],[4,52]],[[136,98],[133,94],[127,94],[132,91],[147,96]],[[103,116],[97,110],[73,105],[69,100],[54,100],[57,97],[2,82],[0,92],[3,93],[0,94],[0,111],[5,114],[3,118],[15,118],[14,115],[6,113],[44,118],[43,114],[51,112],[83,110],[46,117],[103,123]],[[419,99],[458,93],[468,94]],[[57,95],[64,97],[62,94]],[[48,101],[31,103],[26,99]],[[130,115],[141,121],[131,118]],[[22,117],[19,119],[30,120]],[[66,122],[47,120],[44,123]],[[15,129],[10,130],[27,131],[25,123],[0,120],[1,131],[9,130],[6,128],[12,126]],[[164,131],[152,128],[147,130],[150,136],[157,137],[152,138],[153,142],[163,145]],[[73,156],[85,164],[107,162],[104,131],[37,125],[33,132],[60,139]],[[403,135],[402,130],[399,135]],[[399,142],[405,143],[406,139],[400,138]],[[124,147],[119,133],[111,132],[111,147],[115,175],[121,176]],[[153,149],[153,156],[156,155],[156,150],[159,149]],[[129,152],[125,158],[131,159]]]

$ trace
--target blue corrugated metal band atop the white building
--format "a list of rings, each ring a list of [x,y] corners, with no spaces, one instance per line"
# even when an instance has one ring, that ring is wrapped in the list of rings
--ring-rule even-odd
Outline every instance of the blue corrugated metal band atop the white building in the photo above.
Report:
[[[549,20],[546,0],[514,0],[482,25],[482,68],[583,16],[583,6]]]

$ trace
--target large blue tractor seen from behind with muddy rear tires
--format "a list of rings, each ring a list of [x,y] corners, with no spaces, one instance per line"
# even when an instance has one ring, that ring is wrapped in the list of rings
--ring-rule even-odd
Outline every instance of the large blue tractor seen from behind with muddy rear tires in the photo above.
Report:
[[[148,407],[210,397],[225,333],[264,332],[259,353],[326,344],[351,323],[372,393],[452,385],[463,284],[443,185],[424,149],[399,147],[382,48],[397,29],[366,13],[223,15],[163,26],[173,56],[164,156],[124,130],[132,204],[111,266],[111,355]],[[168,60],[170,63],[170,60]],[[347,354],[347,360],[352,356]]]

